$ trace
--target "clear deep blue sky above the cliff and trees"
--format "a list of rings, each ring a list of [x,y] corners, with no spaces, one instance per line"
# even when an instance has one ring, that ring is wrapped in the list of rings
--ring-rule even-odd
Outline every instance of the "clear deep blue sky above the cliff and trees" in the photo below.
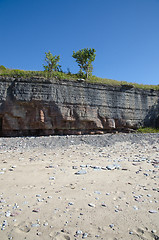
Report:
[[[77,73],[95,48],[93,75],[159,84],[159,0],[0,0],[0,23],[0,65],[43,70],[50,50]]]

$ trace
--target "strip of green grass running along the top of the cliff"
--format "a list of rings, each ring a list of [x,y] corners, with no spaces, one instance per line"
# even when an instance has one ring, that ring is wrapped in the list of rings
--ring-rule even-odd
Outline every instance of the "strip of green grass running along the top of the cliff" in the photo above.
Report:
[[[63,72],[52,72],[48,73],[46,71],[24,71],[19,69],[8,69],[4,66],[0,66],[0,76],[6,77],[14,77],[14,78],[43,78],[43,79],[50,79],[50,78],[57,78],[59,80],[77,80],[80,78],[79,74],[71,74],[71,73],[63,73]],[[159,90],[159,85],[144,85],[144,84],[137,84],[137,83],[128,83],[126,81],[117,81],[107,78],[99,78],[96,76],[91,76],[89,79],[86,80],[88,83],[93,84],[107,84],[111,86],[123,86],[126,85],[128,87],[134,88],[141,88],[141,89],[153,89]]]

